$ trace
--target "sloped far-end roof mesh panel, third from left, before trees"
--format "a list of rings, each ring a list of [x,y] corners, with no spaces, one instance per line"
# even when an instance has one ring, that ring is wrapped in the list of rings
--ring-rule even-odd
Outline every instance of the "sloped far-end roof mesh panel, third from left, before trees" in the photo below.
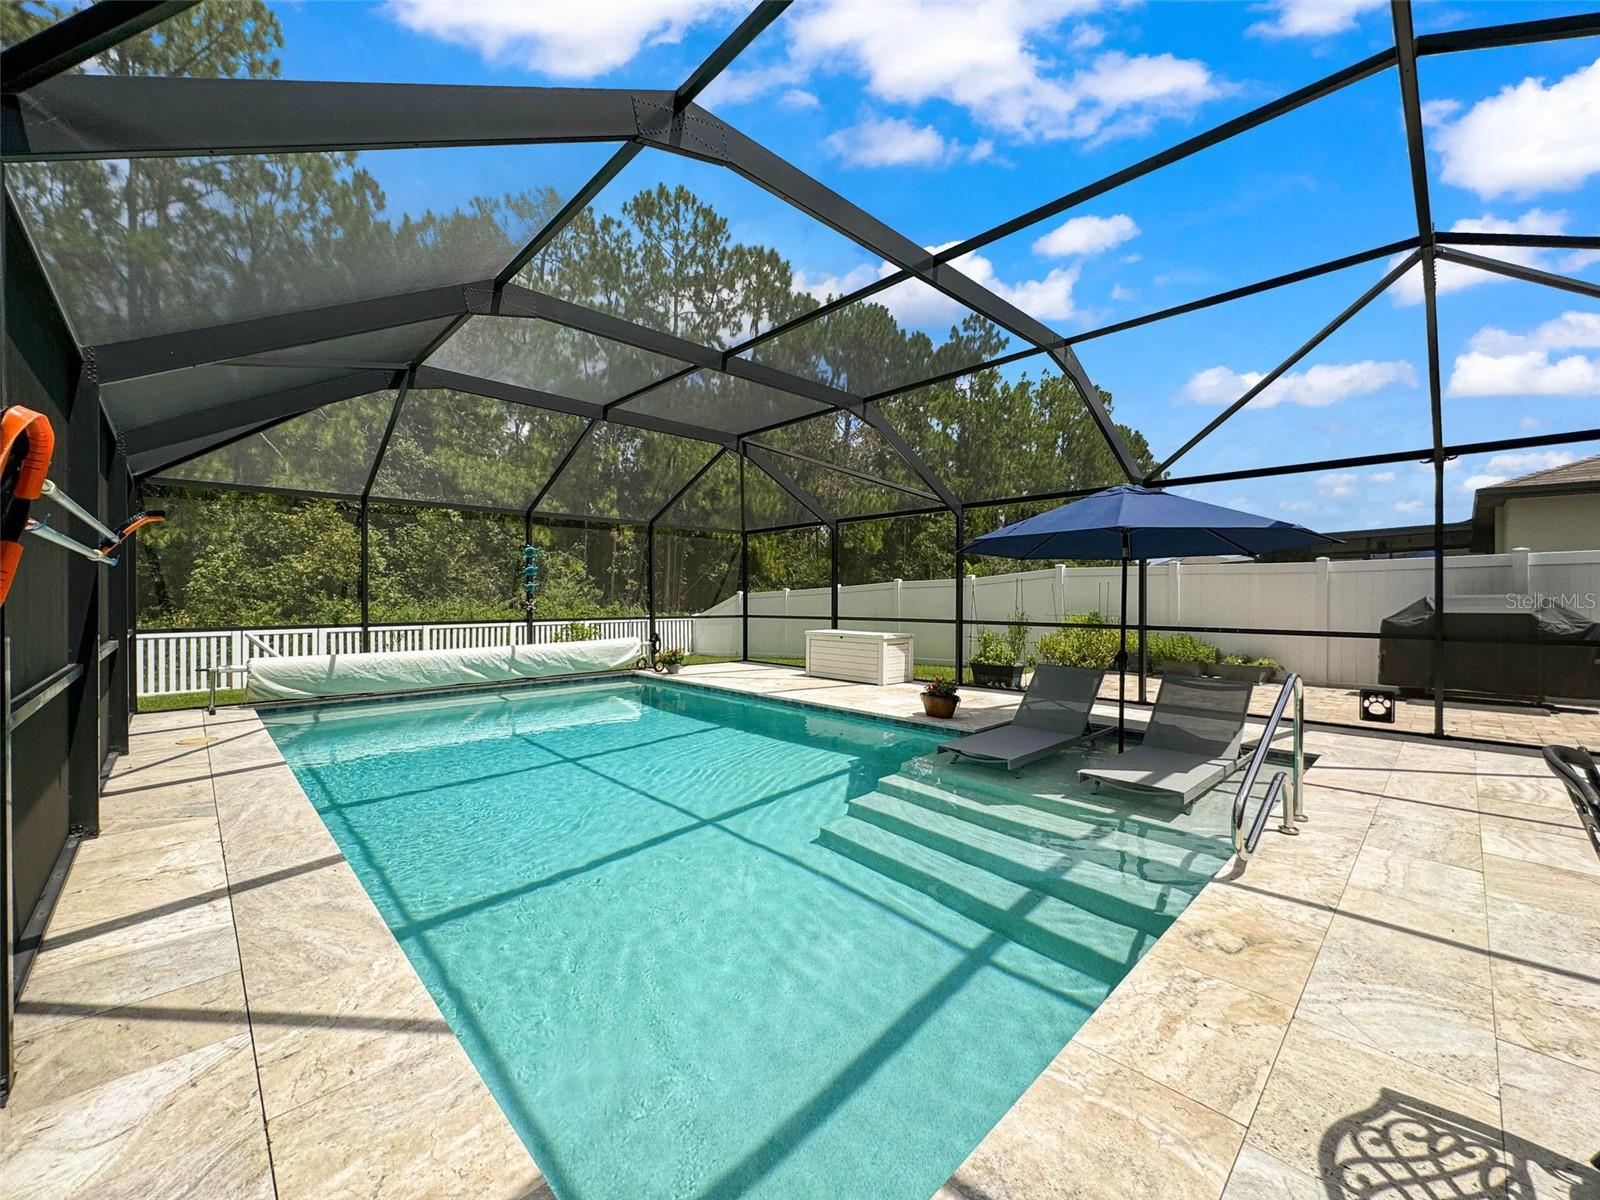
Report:
[[[539,512],[650,520],[717,446],[630,426],[598,424],[539,502]]]

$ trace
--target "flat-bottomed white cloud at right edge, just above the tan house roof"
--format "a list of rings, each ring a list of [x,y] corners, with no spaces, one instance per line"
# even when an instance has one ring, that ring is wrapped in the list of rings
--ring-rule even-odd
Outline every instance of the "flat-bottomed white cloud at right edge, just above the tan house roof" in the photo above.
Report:
[[[1450,371],[1450,395],[1600,395],[1600,312],[1563,312],[1530,333],[1486,325]]]

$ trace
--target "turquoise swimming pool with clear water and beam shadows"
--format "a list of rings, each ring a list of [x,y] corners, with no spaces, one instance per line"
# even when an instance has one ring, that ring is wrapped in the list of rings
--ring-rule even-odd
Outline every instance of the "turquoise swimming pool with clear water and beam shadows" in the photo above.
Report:
[[[664,680],[264,722],[562,1200],[926,1200],[1221,861]]]

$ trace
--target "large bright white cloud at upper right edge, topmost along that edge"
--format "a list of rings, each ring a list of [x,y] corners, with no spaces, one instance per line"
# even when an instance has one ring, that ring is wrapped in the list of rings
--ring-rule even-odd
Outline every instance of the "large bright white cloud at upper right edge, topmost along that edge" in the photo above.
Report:
[[[1570,192],[1600,173],[1600,59],[1546,86],[1525,78],[1440,126],[1443,179],[1491,200]]]

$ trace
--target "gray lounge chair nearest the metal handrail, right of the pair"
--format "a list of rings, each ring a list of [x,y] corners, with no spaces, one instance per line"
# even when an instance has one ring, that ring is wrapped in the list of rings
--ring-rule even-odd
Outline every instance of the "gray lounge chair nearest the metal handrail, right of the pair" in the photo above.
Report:
[[[1240,763],[1250,683],[1230,678],[1166,675],[1144,741],[1078,779],[1146,789],[1190,805]]]

